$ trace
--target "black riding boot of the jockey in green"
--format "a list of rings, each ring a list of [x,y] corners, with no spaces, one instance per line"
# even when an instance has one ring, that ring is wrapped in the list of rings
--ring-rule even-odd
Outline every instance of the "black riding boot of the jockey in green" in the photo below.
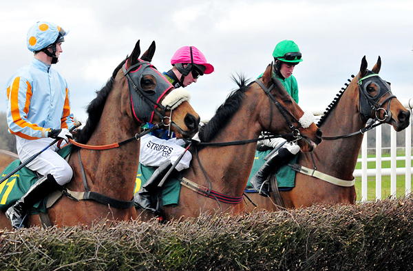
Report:
[[[282,165],[290,161],[295,154],[292,154],[286,148],[281,148],[277,154],[273,157],[268,158],[268,160],[262,165],[260,170],[255,173],[251,178],[251,185],[258,191],[258,193],[264,197],[269,197],[270,194],[270,184],[267,181],[268,176],[272,172],[277,172]]]

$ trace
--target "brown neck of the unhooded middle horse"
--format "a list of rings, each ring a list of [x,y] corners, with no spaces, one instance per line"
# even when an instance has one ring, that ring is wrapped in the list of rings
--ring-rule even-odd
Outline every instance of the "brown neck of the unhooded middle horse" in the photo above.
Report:
[[[224,129],[211,142],[242,141],[256,139],[261,126],[253,105],[246,104],[237,110]],[[241,121],[242,120],[242,121]],[[230,145],[225,147],[206,147],[193,155],[191,169],[186,172],[189,179],[233,197],[240,197],[248,181],[253,166],[257,144]],[[198,159],[199,158],[199,159]],[[200,163],[208,175],[205,177]]]

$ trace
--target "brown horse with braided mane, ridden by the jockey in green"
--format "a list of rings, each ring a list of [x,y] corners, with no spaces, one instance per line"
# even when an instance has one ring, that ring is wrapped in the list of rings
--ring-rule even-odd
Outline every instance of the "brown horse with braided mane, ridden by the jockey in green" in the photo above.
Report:
[[[374,68],[367,70],[366,57],[363,57],[359,74],[337,94],[318,123],[326,134],[323,143],[312,154],[299,154],[299,165],[310,169],[315,166],[319,172],[350,183],[363,140],[363,133],[358,131],[366,127],[368,119],[389,123],[396,131],[409,126],[410,111],[392,95],[390,83],[378,76],[380,67],[379,57]],[[341,137],[343,135],[345,137]],[[336,136],[339,138],[336,139]],[[326,140],[328,137],[330,140]],[[305,207],[314,203],[354,204],[356,201],[354,185],[335,185],[298,172],[295,188],[280,191],[280,194],[286,208]],[[248,195],[259,208],[277,210],[273,204],[277,202],[276,193],[271,194],[272,199],[257,193]],[[252,209],[253,205],[248,205],[248,210]]]

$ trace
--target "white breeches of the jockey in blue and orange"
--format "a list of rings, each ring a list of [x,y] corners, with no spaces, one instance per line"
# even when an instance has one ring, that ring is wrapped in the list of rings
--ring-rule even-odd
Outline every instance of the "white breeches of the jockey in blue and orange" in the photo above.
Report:
[[[27,140],[21,137],[16,137],[17,139],[17,154],[19,154],[19,159],[24,162],[33,154],[40,152],[52,143],[54,139],[43,138],[36,140]],[[39,174],[46,176],[47,174],[52,174],[54,179],[59,185],[64,185],[68,183],[73,176],[73,170],[70,165],[63,159],[56,151],[59,150],[56,144],[47,148],[44,152],[39,154],[33,161],[26,165],[30,170],[39,172]]]

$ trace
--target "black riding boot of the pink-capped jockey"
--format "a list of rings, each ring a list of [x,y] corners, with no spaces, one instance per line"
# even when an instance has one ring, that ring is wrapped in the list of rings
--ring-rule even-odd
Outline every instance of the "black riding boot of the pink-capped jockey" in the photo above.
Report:
[[[157,168],[149,180],[142,185],[142,188],[134,195],[135,203],[143,210],[156,213],[156,203],[153,202],[153,192],[157,190],[158,183],[162,180],[162,177],[168,172],[172,164],[170,162],[164,163]]]

